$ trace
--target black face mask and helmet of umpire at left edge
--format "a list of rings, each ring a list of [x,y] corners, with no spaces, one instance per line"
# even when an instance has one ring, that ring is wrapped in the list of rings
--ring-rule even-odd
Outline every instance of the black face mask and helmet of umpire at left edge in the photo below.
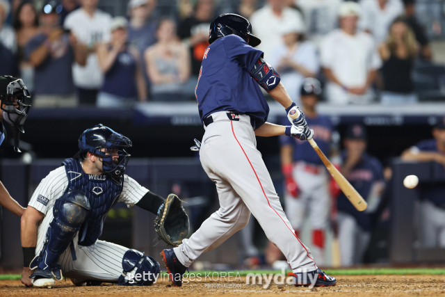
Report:
[[[25,104],[25,99],[31,99],[31,94],[22,79],[6,75],[0,76],[0,109],[3,111],[3,120],[13,130],[16,152],[20,152],[19,132],[25,133],[23,125],[28,117],[29,109],[31,109],[31,105]]]

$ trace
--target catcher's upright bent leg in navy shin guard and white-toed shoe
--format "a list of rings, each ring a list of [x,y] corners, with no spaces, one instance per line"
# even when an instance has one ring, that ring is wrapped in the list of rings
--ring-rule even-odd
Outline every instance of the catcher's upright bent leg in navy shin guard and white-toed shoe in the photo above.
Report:
[[[44,246],[40,255],[29,265],[35,269],[31,274],[35,287],[51,287],[54,285],[53,276],[56,280],[62,280],[58,258],[70,246],[89,210],[90,203],[80,191],[69,191],[56,200],[54,219],[49,224]]]

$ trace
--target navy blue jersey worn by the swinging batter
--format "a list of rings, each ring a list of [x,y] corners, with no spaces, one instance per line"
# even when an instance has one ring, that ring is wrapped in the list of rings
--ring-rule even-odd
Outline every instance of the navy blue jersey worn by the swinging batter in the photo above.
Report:
[[[250,115],[256,128],[266,122],[269,106],[249,74],[260,56],[262,51],[237,35],[218,38],[207,47],[195,88],[202,122],[216,111]]]

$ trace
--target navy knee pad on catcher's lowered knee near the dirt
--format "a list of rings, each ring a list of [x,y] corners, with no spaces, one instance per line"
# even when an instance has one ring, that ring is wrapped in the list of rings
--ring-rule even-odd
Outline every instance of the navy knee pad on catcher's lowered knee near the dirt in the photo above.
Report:
[[[138,250],[127,250],[122,258],[120,286],[151,286],[159,278],[160,266],[153,257]]]

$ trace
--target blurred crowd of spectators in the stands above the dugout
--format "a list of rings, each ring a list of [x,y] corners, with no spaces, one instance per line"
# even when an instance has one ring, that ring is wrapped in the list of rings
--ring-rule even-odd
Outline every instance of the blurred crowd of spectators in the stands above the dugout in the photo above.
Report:
[[[296,102],[307,77],[332,104],[417,102],[414,63],[432,58],[414,0],[180,0],[170,15],[130,0],[114,18],[99,4],[0,0],[0,74],[24,79],[33,108],[193,100],[220,13],[250,20]]]

